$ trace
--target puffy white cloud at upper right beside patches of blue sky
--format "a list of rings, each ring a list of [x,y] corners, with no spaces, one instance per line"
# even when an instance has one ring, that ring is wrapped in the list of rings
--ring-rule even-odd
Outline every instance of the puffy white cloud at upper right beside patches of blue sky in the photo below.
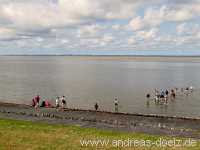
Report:
[[[190,20],[194,17],[194,14],[186,8],[175,9],[170,8],[169,6],[163,5],[158,8],[148,8],[144,17],[137,16],[133,18],[129,27],[136,31],[144,28],[156,27],[164,22],[179,22]]]

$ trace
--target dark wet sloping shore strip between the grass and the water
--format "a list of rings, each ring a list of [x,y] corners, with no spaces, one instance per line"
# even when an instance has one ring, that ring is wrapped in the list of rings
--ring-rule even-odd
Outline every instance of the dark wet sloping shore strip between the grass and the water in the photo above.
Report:
[[[200,139],[200,118],[56,108],[40,108],[37,112],[31,106],[11,103],[0,103],[0,118]]]

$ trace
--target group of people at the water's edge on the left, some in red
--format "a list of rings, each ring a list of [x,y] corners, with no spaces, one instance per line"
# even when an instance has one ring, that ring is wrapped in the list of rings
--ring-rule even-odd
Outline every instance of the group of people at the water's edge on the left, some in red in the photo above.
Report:
[[[43,100],[40,104],[40,100],[41,100],[41,97],[39,95],[35,96],[33,99],[32,99],[32,106],[35,107],[36,109],[38,109],[39,107],[52,107],[51,103],[49,100]],[[56,98],[56,108],[65,108],[66,107],[66,100],[65,100],[65,96],[62,96],[62,97],[57,97]]]

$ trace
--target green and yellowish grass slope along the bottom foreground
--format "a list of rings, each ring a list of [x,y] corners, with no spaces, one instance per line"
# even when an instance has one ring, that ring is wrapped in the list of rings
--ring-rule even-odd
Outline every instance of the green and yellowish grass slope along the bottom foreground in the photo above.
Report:
[[[113,140],[151,140],[172,139],[170,137],[153,136],[138,133],[124,133],[105,131],[91,128],[81,128],[78,126],[51,125],[39,122],[16,121],[0,119],[0,150],[80,150],[80,149],[136,149],[136,150],[199,150],[200,143],[195,147],[115,147]],[[108,146],[81,146],[80,140],[106,139],[110,143]],[[180,138],[179,138],[180,139]],[[185,140],[185,139],[184,139]]]

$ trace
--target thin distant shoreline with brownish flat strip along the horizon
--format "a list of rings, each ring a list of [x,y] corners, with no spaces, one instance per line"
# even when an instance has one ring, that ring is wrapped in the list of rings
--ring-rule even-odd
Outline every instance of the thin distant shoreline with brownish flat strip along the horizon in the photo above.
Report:
[[[192,62],[200,63],[200,56],[158,56],[158,55],[0,55],[1,58],[71,58],[73,61],[116,61],[116,62]]]

